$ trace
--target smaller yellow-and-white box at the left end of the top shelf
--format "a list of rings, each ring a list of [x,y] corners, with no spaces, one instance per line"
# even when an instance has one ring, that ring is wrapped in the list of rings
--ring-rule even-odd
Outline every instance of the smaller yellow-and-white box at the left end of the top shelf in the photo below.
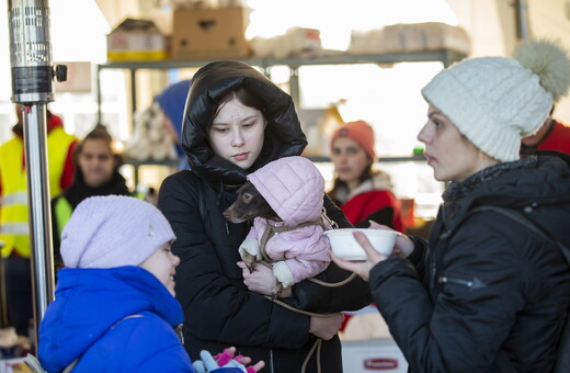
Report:
[[[169,37],[152,21],[126,19],[107,35],[107,59],[157,60],[169,58]]]

